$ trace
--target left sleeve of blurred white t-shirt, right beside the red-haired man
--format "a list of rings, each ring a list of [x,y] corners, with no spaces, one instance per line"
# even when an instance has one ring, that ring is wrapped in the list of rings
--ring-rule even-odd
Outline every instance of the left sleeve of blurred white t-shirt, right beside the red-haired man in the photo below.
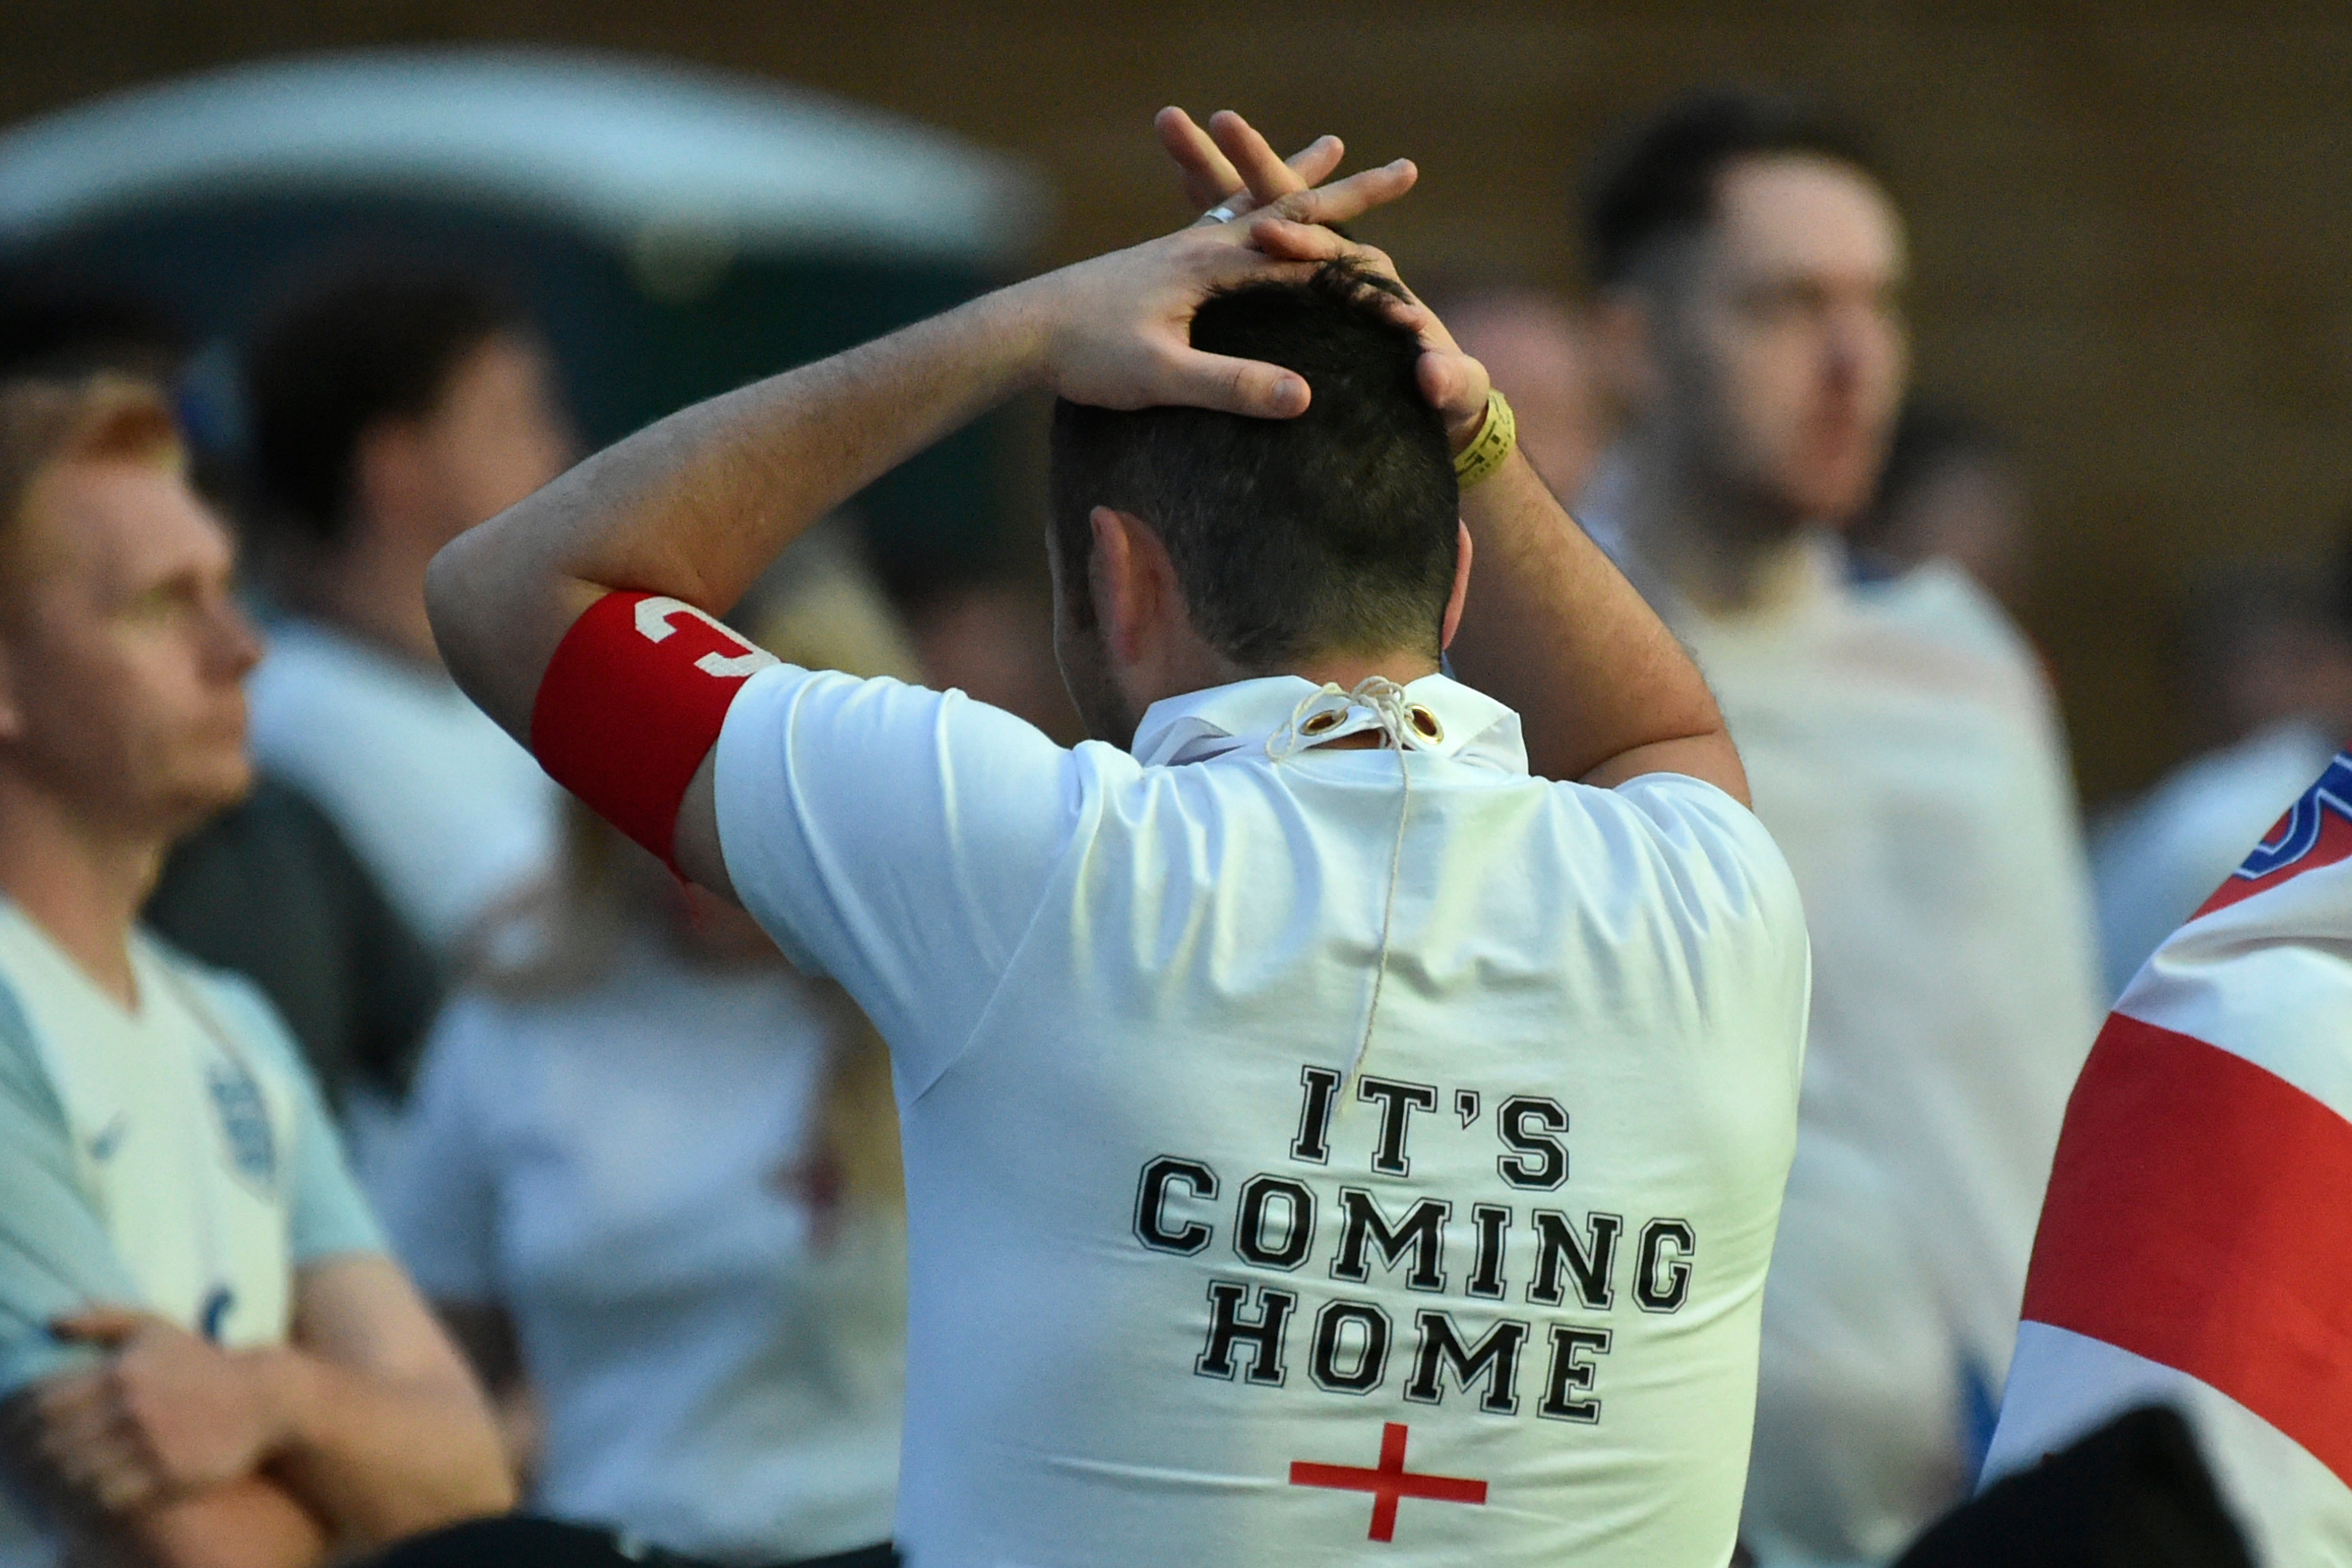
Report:
[[[416,1288],[437,1300],[499,1300],[499,1173],[477,1086],[499,1081],[494,1006],[461,997],[426,1041],[376,1197]]]

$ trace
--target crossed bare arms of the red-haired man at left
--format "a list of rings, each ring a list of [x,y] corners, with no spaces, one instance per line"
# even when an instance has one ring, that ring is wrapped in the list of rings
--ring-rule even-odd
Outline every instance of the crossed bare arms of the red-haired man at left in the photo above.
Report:
[[[480,1394],[388,1258],[303,1269],[282,1347],[111,1307],[56,1331],[108,1359],[12,1399],[0,1450],[78,1563],[292,1568],[513,1507]]]

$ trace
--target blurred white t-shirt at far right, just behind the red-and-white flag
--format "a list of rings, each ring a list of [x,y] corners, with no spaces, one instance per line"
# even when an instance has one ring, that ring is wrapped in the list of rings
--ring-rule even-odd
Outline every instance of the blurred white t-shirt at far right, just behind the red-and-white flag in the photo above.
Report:
[[[2336,738],[2288,719],[2227,750],[2180,764],[2131,802],[2091,844],[2107,997],[2122,997],[2164,938],[2180,929],[2270,832],[2336,755]]]

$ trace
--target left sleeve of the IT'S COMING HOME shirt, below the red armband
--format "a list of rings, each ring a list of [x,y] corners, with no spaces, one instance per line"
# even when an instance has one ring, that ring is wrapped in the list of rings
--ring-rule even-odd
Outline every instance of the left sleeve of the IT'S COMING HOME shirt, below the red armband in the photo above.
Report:
[[[962,691],[779,665],[717,745],[720,849],[786,957],[891,1046],[898,1098],[957,1058],[1084,809],[1077,755]]]

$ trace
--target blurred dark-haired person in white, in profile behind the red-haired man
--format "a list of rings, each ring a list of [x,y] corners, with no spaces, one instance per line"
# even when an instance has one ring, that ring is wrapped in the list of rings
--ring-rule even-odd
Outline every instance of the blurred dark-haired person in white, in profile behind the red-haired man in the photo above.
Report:
[[[292,611],[254,672],[254,752],[447,957],[555,849],[555,785],[449,684],[423,602],[435,550],[574,456],[548,353],[468,277],[365,270],[256,329],[245,395],[263,567]]]

